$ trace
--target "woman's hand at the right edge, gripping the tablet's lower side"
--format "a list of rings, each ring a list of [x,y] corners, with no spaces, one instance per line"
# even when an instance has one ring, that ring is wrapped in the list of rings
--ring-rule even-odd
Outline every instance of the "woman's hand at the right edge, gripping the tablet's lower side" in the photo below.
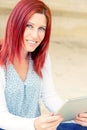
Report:
[[[82,126],[87,126],[87,113],[84,112],[84,113],[80,113],[78,114],[74,121],[77,123],[77,124],[80,124]]]

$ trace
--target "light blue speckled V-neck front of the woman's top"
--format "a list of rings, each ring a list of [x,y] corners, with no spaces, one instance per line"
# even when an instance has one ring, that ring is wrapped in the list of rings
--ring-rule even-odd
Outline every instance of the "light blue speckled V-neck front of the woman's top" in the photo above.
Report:
[[[27,118],[40,115],[41,79],[35,73],[30,60],[26,80],[23,82],[12,64],[6,70],[5,97],[10,113]]]

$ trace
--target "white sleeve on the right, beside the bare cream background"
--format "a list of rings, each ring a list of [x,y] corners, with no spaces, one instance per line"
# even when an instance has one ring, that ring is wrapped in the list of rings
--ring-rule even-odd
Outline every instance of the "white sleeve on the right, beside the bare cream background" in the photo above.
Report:
[[[42,70],[42,88],[41,88],[41,98],[45,106],[49,111],[56,113],[57,110],[63,105],[64,100],[60,98],[58,93],[55,91],[55,86],[53,83],[52,73],[51,73],[51,62],[50,57],[47,55],[46,61]]]

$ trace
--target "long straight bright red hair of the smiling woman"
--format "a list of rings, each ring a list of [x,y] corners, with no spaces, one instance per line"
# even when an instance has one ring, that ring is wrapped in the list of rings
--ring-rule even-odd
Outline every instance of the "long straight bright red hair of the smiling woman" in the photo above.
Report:
[[[0,50],[0,65],[13,63],[15,55],[20,59],[26,24],[34,13],[42,13],[47,18],[45,37],[36,50],[31,53],[34,62],[33,68],[42,77],[41,69],[44,65],[51,33],[51,12],[47,5],[40,0],[21,0],[11,12]]]

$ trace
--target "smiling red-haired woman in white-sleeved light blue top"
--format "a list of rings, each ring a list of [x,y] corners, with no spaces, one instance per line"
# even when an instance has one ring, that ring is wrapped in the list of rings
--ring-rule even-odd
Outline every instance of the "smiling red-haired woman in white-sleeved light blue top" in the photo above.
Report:
[[[55,130],[63,120],[53,114],[63,101],[51,77],[50,32],[50,9],[42,1],[21,0],[12,10],[0,47],[0,128]],[[41,115],[40,98],[48,114]]]

